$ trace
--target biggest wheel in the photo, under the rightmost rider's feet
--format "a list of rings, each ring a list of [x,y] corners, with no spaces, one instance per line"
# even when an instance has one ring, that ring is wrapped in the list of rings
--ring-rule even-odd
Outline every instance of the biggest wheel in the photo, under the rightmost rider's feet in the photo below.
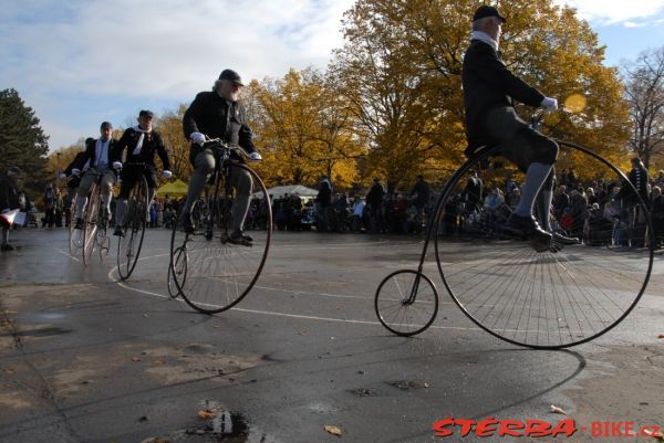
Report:
[[[589,179],[601,177],[606,183],[622,182],[636,194],[626,177],[601,156],[573,144],[559,145],[559,170],[584,171]],[[523,175],[496,157],[498,152],[490,148],[468,160],[440,196],[435,254],[449,295],[477,326],[529,348],[566,348],[611,330],[634,308],[652,271],[653,230],[643,200],[639,198],[636,203],[641,236],[636,231],[630,233],[627,247],[615,244],[611,232],[595,232],[599,238],[613,236],[611,243],[536,252],[529,243],[506,235],[505,220],[494,220],[488,231],[487,226],[475,231],[471,223],[461,231],[458,196],[467,171],[477,170],[485,189],[502,187],[509,175],[522,182]],[[611,231],[612,225],[606,229]]]

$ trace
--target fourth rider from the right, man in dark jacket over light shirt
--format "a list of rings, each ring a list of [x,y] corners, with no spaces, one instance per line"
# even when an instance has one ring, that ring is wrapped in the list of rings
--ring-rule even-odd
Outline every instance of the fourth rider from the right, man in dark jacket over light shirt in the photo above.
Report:
[[[87,203],[90,187],[97,179],[97,175],[102,177],[102,204],[105,208],[105,219],[107,220],[107,217],[111,214],[111,194],[113,193],[113,183],[115,182],[115,172],[111,169],[111,152],[116,144],[112,137],[113,125],[108,122],[103,122],[100,126],[100,133],[101,137],[96,140],[94,138],[85,140],[85,150],[81,156],[76,156],[72,165],[71,173],[75,177],[81,176],[81,170],[83,170],[85,165],[87,165],[89,171],[94,170],[97,172],[85,173],[79,182],[74,229],[83,229],[83,209]]]

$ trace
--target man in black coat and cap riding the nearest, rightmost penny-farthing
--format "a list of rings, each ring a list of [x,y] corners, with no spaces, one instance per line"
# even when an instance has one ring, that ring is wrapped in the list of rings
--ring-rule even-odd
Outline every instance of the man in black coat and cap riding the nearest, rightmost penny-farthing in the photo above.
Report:
[[[513,107],[513,101],[518,101],[556,110],[558,101],[528,85],[502,62],[498,46],[506,21],[496,8],[486,4],[473,17],[471,41],[461,72],[468,138],[466,155],[471,156],[483,146],[500,145],[501,155],[526,172],[521,198],[507,222],[508,230],[541,244],[549,244],[551,240],[560,244],[577,243],[577,239],[550,232],[548,213],[553,197],[558,144],[530,128]],[[533,217],[536,198],[542,225]]]

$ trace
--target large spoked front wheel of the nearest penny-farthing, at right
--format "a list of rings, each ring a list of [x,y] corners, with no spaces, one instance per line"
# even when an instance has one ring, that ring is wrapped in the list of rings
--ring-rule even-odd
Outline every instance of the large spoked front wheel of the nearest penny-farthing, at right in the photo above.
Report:
[[[559,175],[559,183],[573,186],[571,201],[554,198],[551,210],[538,212],[553,232],[581,243],[542,251],[506,229],[519,198],[518,188],[504,191],[506,183],[525,177],[498,148],[455,173],[436,215],[436,260],[450,296],[486,331],[531,348],[579,345],[616,326],[643,295],[653,265],[650,212],[626,177],[589,149],[559,145],[558,171],[578,175]],[[471,170],[490,192],[486,202],[467,191]],[[584,189],[593,180],[605,188],[590,202]],[[613,193],[620,187],[627,188],[623,199]]]

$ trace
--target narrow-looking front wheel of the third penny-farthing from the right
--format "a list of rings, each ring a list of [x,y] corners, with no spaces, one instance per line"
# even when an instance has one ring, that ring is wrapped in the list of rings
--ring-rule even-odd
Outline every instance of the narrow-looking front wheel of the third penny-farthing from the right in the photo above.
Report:
[[[129,278],[141,255],[149,204],[147,197],[147,181],[142,175],[129,191],[124,235],[117,238],[117,272],[123,281]],[[116,223],[122,221],[117,220]]]

